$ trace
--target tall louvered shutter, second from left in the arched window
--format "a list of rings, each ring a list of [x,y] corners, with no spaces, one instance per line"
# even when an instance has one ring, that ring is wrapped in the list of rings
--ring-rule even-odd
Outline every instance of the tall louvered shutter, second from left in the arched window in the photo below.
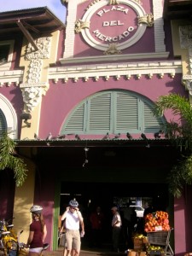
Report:
[[[88,105],[88,124],[89,133],[101,133],[111,130],[111,93],[90,98]]]

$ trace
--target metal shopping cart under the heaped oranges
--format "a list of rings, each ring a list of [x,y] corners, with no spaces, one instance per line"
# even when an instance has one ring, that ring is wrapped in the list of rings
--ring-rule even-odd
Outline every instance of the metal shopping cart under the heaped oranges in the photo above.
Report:
[[[172,247],[170,246],[171,230],[168,231],[152,231],[147,233],[148,243],[156,246],[163,246],[166,255],[173,255]]]

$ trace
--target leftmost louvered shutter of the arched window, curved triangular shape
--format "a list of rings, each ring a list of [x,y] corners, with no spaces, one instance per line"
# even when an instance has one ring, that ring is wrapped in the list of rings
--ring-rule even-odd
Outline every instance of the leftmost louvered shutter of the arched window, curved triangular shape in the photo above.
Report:
[[[84,131],[84,103],[82,103],[63,126],[61,134],[69,133],[83,133]]]

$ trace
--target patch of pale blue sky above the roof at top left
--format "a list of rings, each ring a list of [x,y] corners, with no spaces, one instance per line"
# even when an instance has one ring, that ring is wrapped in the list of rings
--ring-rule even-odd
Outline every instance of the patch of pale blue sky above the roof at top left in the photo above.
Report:
[[[65,23],[66,9],[61,4],[61,0],[0,0],[0,12],[44,6],[47,6],[52,13]]]

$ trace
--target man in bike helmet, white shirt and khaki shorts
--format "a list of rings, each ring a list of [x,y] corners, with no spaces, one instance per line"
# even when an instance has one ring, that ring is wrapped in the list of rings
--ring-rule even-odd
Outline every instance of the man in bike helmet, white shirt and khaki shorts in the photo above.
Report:
[[[72,249],[73,256],[79,256],[81,246],[79,233],[80,225],[81,236],[84,236],[84,219],[78,207],[78,201],[71,200],[66,212],[61,216],[61,220],[65,219],[67,256],[71,255]]]

